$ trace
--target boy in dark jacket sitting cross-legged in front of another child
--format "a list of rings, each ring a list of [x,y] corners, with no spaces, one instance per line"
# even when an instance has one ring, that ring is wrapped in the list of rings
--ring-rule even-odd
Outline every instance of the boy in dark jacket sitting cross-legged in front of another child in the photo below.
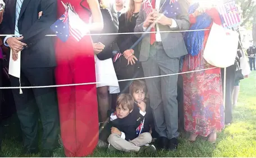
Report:
[[[134,99],[130,94],[121,94],[117,97],[116,111],[111,114],[109,123],[103,127],[99,135],[101,141],[106,141],[106,136],[109,136],[109,151],[156,151],[156,147],[148,145],[152,141],[150,133],[141,133],[141,130],[136,132],[143,128],[140,120],[144,119],[145,110],[141,109],[141,114],[133,110]]]

